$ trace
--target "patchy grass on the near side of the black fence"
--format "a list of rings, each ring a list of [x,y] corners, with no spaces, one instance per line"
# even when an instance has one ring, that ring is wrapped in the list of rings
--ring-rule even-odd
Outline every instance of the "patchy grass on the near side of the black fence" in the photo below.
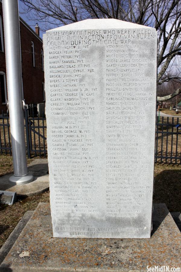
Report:
[[[11,156],[0,156],[0,164],[1,175],[12,172]],[[154,176],[153,202],[166,203],[170,212],[181,211],[181,165],[155,164]],[[35,210],[39,202],[49,202],[49,191],[19,200],[12,206],[0,204],[0,248],[24,213]]]

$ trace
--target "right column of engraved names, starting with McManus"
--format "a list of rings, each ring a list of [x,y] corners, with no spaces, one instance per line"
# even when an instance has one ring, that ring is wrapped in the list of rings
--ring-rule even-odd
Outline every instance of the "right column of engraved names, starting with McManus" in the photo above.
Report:
[[[141,150],[145,143],[138,137],[138,131],[146,122],[142,108],[149,103],[151,79],[145,78],[143,73],[148,65],[147,59],[142,57],[146,50],[142,44],[134,44],[134,39],[141,35],[138,33],[135,37],[127,31],[131,44],[109,45],[106,49],[106,75],[112,76],[112,80],[106,79],[106,207],[109,215],[124,217],[132,216],[132,205],[144,204],[144,193],[151,193],[136,176],[138,165],[146,159]],[[141,169],[143,179],[147,167],[144,164]],[[118,189],[121,193],[117,193]],[[138,212],[137,208],[134,214]]]

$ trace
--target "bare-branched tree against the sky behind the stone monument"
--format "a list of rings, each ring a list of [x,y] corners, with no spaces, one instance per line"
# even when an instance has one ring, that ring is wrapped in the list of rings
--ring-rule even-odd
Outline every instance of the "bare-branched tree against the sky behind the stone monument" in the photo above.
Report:
[[[40,22],[61,26],[90,18],[115,18],[157,30],[157,84],[181,83],[181,0],[21,0],[24,12]],[[157,97],[165,101],[181,93]]]

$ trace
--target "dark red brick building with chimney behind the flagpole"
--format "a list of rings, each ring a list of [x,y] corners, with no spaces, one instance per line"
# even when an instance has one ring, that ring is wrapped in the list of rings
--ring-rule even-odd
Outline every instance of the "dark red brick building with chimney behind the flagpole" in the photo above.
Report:
[[[38,25],[35,31],[20,17],[22,100],[34,105],[45,101],[43,42]],[[7,110],[7,96],[4,24],[0,2],[0,113]]]

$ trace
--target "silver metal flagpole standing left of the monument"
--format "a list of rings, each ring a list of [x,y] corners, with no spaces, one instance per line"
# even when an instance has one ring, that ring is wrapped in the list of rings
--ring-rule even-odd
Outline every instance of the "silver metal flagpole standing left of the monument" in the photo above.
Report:
[[[11,128],[11,146],[14,175],[9,178],[13,184],[33,181],[28,174],[24,135],[24,113],[21,93],[20,27],[18,0],[2,0],[6,72],[8,85],[8,106]]]

